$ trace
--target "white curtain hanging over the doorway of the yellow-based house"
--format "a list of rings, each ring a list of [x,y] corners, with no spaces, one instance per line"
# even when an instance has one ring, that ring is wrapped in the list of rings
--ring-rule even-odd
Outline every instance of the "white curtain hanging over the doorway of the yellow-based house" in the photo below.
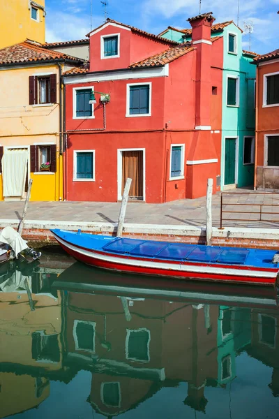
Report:
[[[2,158],[3,196],[22,196],[27,177],[27,149],[5,150]]]

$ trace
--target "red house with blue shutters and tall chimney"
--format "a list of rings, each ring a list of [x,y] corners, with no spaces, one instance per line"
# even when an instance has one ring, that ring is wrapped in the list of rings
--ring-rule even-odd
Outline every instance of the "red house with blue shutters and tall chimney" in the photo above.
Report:
[[[223,38],[211,13],[179,44],[107,19],[89,68],[64,75],[66,200],[165,203],[206,193],[220,175]],[[90,102],[90,103],[89,103]]]

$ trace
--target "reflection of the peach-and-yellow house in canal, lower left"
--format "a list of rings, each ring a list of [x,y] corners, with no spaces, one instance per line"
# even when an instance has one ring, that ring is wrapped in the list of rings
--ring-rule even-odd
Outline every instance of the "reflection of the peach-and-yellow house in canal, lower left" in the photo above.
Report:
[[[6,264],[0,272],[0,418],[38,406],[50,379],[63,377],[61,293],[50,293],[57,274],[22,271]]]

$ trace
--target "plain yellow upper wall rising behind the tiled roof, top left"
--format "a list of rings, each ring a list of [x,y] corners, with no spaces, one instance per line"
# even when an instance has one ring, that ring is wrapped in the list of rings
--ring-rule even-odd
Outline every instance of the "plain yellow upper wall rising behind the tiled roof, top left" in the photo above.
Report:
[[[45,0],[36,0],[45,6]],[[39,20],[31,19],[29,0],[0,1],[0,48],[16,43],[32,41],[45,43],[45,17],[43,10],[38,9]]]

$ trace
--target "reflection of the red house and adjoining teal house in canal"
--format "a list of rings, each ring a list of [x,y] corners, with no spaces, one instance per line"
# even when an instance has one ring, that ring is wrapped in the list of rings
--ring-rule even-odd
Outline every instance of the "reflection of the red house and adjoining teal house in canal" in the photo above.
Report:
[[[250,343],[247,309],[71,292],[65,302],[66,365],[93,372],[89,402],[105,416],[181,382],[183,402],[205,411],[206,386],[231,381]]]

